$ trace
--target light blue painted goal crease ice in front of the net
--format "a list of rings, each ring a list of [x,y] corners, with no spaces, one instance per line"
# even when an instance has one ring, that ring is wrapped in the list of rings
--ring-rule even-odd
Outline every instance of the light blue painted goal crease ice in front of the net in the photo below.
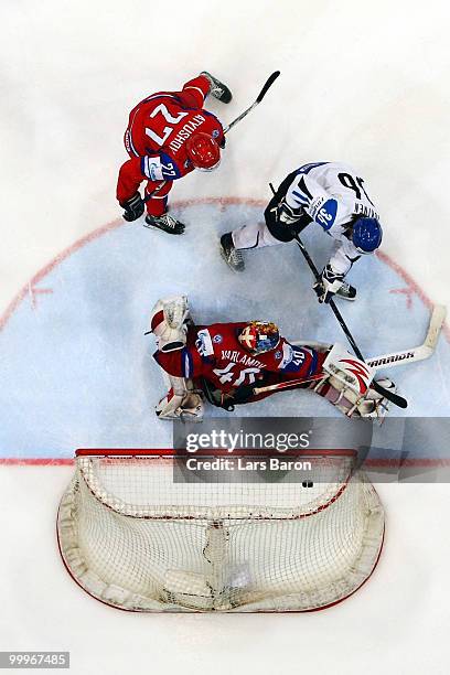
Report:
[[[261,206],[194,204],[174,211],[188,234],[170,238],[140,223],[87,243],[61,261],[33,307],[24,298],[0,334],[0,447],[9,457],[72,457],[74,448],[170,447],[172,425],[154,406],[165,393],[151,357],[150,310],[160,297],[188,293],[196,323],[274,320],[291,340],[346,340],[328,307],[320,307],[312,278],[294,244],[248,251],[247,268],[233,274],[218,255],[218,237],[242,222],[261,218]],[[205,235],[206,231],[206,235]],[[332,242],[311,226],[303,237],[315,260]],[[360,299],[340,307],[363,353],[375,356],[419,344],[430,310],[415,296],[408,309],[405,282],[381,258],[352,270]],[[379,320],[381,318],[382,321]],[[444,377],[450,345],[442,335],[432,358],[393,369],[409,399],[401,416],[448,416]],[[427,386],[424,386],[424,379]],[[206,406],[205,416],[228,414]],[[285,392],[239,406],[240,416],[340,416],[309,392]],[[413,448],[409,448],[413,450]],[[435,448],[421,456],[436,456]]]

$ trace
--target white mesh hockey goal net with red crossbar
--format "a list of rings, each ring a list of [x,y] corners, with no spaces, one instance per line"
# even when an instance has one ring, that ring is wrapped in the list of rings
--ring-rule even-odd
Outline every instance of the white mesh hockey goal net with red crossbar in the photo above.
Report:
[[[374,570],[384,511],[353,452],[301,460],[304,481],[182,483],[172,451],[78,451],[57,516],[64,564],[88,593],[133,611],[334,604]]]

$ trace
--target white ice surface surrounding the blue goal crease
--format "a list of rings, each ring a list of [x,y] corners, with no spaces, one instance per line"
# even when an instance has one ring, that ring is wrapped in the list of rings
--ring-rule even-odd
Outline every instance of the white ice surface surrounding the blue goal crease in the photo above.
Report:
[[[281,180],[299,163],[349,161],[364,174],[382,210],[384,250],[432,301],[450,304],[449,14],[443,0],[426,6],[406,0],[226,6],[217,0],[6,0],[0,7],[1,310],[52,258],[118,217],[114,191],[129,108],[150,92],[181,86],[204,67],[234,90],[228,108],[211,106],[225,121],[251,103],[271,71],[280,68],[282,77],[233,130],[221,170],[186,178],[176,186],[176,199],[266,199],[267,182]],[[207,231],[207,224],[202,228]],[[149,234],[133,232],[142,239]],[[281,259],[280,251],[270,256]],[[119,251],[113,262],[125,264]],[[151,294],[151,266],[147,272],[139,303],[146,285]],[[276,268],[275,274],[286,272]],[[200,307],[199,287],[192,290]],[[38,308],[45,300],[40,296]],[[216,306],[210,308],[215,318]],[[269,309],[272,314],[275,308]],[[382,325],[384,317],[378,319]],[[361,323],[355,322],[358,333]],[[420,321],[411,338],[422,330]],[[25,338],[23,354],[34,332]],[[142,372],[139,361],[133,367]],[[33,376],[47,374],[38,368]],[[50,427],[61,413],[56,394]],[[32,429],[40,405],[34,381],[21,382],[15,395],[24,408],[19,421]],[[9,419],[10,411],[2,416],[3,429]],[[2,452],[21,453],[10,444]],[[77,675],[448,672],[447,485],[381,486],[388,523],[379,568],[360,593],[333,610],[292,617],[138,617],[85,597],[57,558],[54,516],[69,473],[1,469],[1,649],[71,649]]]

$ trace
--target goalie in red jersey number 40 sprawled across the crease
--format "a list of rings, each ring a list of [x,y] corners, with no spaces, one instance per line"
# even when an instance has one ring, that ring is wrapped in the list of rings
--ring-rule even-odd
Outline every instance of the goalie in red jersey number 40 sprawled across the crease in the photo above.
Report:
[[[194,325],[185,296],[152,310],[153,354],[168,387],[157,405],[161,419],[201,420],[204,399],[233,410],[285,388],[308,388],[347,417],[381,418],[388,401],[371,384],[375,368],[342,345],[292,344],[274,323]],[[390,379],[377,379],[395,390]]]

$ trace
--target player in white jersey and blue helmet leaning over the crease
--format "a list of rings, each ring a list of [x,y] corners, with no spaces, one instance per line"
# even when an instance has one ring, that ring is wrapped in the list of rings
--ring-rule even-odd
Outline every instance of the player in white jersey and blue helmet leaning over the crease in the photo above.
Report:
[[[334,293],[354,300],[356,289],[344,278],[353,262],[379,247],[383,231],[364,180],[341,162],[304,164],[290,173],[270,200],[265,223],[222,236],[222,256],[233,270],[243,271],[243,249],[291,242],[310,223],[339,243],[314,285],[319,302]]]

